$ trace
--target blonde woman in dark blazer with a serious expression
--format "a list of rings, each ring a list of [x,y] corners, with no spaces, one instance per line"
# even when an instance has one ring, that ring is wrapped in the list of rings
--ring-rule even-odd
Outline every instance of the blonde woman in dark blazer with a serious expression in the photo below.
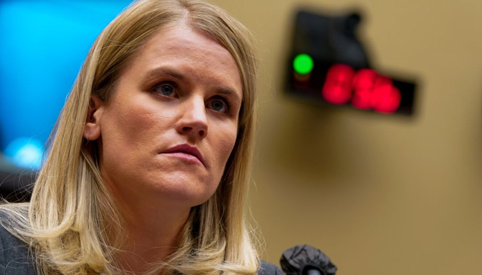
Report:
[[[112,21],[65,103],[30,203],[2,206],[0,272],[281,274],[259,261],[244,217],[249,41],[201,1],[141,0]]]

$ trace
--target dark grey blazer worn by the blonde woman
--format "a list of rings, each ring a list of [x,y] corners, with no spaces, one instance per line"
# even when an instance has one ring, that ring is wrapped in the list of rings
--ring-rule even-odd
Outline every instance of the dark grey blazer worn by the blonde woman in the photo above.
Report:
[[[261,261],[258,275],[282,275],[280,267]],[[28,245],[0,225],[0,275],[36,275]]]

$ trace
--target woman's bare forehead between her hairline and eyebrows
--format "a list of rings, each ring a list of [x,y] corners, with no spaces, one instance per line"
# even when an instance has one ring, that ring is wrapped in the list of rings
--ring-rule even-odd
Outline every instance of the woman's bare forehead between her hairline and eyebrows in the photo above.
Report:
[[[143,76],[171,72],[187,78],[212,80],[236,91],[242,98],[240,71],[231,53],[205,32],[185,24],[156,32],[127,65]]]

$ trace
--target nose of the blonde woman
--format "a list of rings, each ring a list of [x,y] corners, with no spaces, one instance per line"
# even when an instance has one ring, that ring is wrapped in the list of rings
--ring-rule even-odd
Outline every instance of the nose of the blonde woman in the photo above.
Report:
[[[207,136],[207,113],[205,102],[202,98],[192,98],[181,104],[180,119],[176,125],[176,131],[182,135],[190,135],[193,138]]]

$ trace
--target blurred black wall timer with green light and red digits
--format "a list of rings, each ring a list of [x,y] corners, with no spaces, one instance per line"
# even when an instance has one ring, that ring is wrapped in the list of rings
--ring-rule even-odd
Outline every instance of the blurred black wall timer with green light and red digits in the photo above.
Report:
[[[308,102],[377,113],[414,112],[415,81],[378,72],[357,37],[362,17],[300,11],[295,17],[286,91]]]

